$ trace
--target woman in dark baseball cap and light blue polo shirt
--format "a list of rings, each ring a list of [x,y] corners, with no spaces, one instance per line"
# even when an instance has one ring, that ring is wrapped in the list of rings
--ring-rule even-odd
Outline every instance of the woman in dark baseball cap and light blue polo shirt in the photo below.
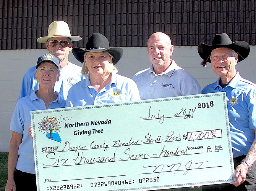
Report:
[[[19,99],[16,104],[10,123],[12,137],[6,191],[37,190],[33,143],[28,132],[30,111],[65,107],[66,101],[58,92],[54,92],[54,84],[60,77],[59,67],[59,60],[52,54],[39,57],[35,72],[39,90]]]

